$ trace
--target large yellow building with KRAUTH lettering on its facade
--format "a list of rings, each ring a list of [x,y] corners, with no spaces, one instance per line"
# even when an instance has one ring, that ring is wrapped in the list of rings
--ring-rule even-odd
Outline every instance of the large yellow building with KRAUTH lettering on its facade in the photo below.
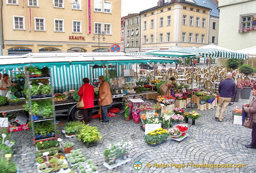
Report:
[[[109,51],[120,44],[120,0],[1,2],[2,55]]]

